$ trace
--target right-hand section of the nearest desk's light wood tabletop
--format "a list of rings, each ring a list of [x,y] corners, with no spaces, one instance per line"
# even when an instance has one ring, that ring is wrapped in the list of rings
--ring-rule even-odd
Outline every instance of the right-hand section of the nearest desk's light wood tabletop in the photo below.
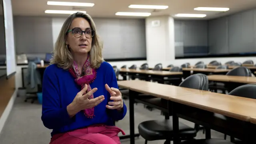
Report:
[[[251,98],[211,92],[174,96],[170,100],[247,122],[251,116],[256,116],[256,99]]]

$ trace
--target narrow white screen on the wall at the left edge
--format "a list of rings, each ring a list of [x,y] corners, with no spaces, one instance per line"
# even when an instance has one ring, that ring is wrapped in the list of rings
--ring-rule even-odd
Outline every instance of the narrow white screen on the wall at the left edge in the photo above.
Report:
[[[6,69],[7,77],[16,72],[16,58],[14,46],[14,27],[12,16],[11,0],[3,0],[4,8],[4,28],[5,28],[5,45],[6,45]]]

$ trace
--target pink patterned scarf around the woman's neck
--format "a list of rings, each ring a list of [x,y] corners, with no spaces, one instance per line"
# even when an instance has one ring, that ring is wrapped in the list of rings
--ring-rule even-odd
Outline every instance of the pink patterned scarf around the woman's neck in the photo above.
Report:
[[[82,74],[80,74],[78,65],[76,64],[75,61],[72,65],[72,68],[69,69],[69,72],[72,74],[72,76],[74,76],[76,84],[81,86],[81,90],[84,88],[85,84],[87,84],[87,86],[88,86],[86,93],[89,92],[90,90],[92,90],[90,83],[92,83],[95,80],[97,72],[94,68],[91,68],[91,66],[90,66],[89,55],[88,55],[88,58],[86,59],[86,61],[84,62]],[[94,96],[92,94],[89,97],[89,99],[93,99],[93,98],[94,98]],[[94,108],[85,109],[84,115],[87,118],[93,118],[93,116],[95,116]]]

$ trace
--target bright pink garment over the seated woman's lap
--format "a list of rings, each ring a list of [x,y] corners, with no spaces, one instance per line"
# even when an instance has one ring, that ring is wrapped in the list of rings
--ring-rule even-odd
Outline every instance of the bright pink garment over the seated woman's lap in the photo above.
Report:
[[[118,133],[124,131],[117,126],[94,125],[86,128],[55,134],[50,144],[121,144]]]

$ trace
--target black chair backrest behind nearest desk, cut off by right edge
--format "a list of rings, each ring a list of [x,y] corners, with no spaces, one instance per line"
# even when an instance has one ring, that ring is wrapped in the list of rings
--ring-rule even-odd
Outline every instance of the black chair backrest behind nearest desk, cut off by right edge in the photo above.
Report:
[[[245,84],[232,90],[229,95],[256,99],[256,84]]]

